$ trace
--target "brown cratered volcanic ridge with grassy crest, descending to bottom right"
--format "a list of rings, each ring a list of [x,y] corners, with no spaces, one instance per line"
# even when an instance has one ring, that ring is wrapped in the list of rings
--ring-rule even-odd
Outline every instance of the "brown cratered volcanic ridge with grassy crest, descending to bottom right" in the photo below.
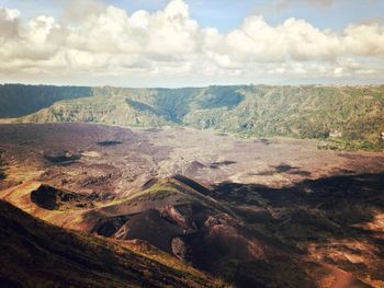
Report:
[[[296,254],[279,239],[260,233],[234,212],[234,206],[212,198],[210,189],[188,177],[174,175],[149,185],[127,199],[88,211],[88,231],[144,239],[236,287],[368,287],[352,274]],[[271,219],[263,219],[271,224]],[[258,220],[253,217],[251,222]],[[349,285],[335,286],[342,279]]]

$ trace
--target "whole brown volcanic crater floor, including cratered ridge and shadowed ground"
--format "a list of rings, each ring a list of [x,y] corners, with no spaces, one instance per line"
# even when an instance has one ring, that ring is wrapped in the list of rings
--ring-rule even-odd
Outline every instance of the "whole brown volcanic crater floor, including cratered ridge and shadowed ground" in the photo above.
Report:
[[[0,125],[0,197],[239,287],[383,287],[384,154],[189,128]]]

